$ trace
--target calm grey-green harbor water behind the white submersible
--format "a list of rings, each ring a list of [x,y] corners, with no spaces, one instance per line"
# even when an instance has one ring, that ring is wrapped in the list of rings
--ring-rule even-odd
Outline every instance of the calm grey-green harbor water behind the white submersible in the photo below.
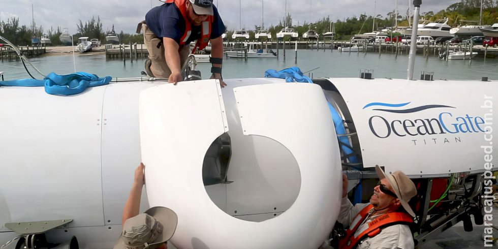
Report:
[[[111,75],[112,77],[140,77],[140,71],[144,70],[144,61],[139,58],[133,62],[129,59],[123,64],[122,59],[108,59],[105,55],[83,54],[42,56],[30,58],[30,62],[42,73],[68,74],[77,72],[97,74],[99,77]],[[247,61],[241,58],[224,58],[224,78],[252,78],[264,77],[268,69],[281,70],[297,66],[302,72],[313,70],[314,77],[359,77],[360,69],[374,70],[375,78],[401,78],[407,77],[408,55],[383,53],[379,55],[374,52],[339,52],[337,50],[298,50],[297,65],[295,64],[294,50],[287,50],[286,60],[283,51],[280,50],[279,58],[250,58]],[[211,65],[209,63],[198,64],[197,69],[201,71],[204,79],[208,78]],[[28,66],[28,69],[36,78],[41,76]],[[20,60],[0,61],[0,71],[5,72],[5,80],[29,78]],[[421,71],[434,72],[434,79],[453,80],[480,80],[488,77],[490,80],[498,80],[498,59],[475,58],[472,60],[449,60],[444,61],[437,56],[425,57],[417,54],[414,70],[414,78],[420,77]],[[306,74],[307,75],[307,74]]]

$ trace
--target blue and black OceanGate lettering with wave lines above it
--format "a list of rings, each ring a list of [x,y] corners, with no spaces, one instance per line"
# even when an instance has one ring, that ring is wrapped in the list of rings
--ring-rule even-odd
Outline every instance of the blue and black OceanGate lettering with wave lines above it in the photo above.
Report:
[[[371,132],[378,138],[485,132],[481,128],[481,125],[485,123],[482,117],[469,114],[463,116],[453,115],[452,111],[457,109],[453,106],[423,105],[409,107],[410,104],[411,102],[400,104],[373,102],[365,105],[363,109],[372,107],[372,111],[379,112],[378,115],[371,116],[368,119]],[[437,116],[427,116],[423,112],[424,110],[435,108],[443,109],[443,111]],[[399,115],[390,114],[389,117],[386,117],[382,115],[384,112]],[[414,112],[420,112],[420,118],[410,119],[403,117],[403,114]],[[393,119],[393,117],[396,118]]]

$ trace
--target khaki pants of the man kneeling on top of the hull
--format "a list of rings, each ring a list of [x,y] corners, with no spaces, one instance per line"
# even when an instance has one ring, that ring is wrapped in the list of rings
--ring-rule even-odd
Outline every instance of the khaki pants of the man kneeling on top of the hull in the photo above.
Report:
[[[171,75],[171,70],[169,69],[168,64],[166,64],[166,59],[164,57],[163,40],[155,36],[145,23],[142,23],[142,32],[143,42],[147,47],[147,51],[149,52],[149,59],[151,60],[150,71],[153,75],[149,76],[155,78],[169,78],[169,76]],[[180,54],[181,66],[189,56],[190,45],[186,44],[180,46],[180,48],[178,49],[178,53]],[[145,72],[147,71],[148,70],[146,69]]]

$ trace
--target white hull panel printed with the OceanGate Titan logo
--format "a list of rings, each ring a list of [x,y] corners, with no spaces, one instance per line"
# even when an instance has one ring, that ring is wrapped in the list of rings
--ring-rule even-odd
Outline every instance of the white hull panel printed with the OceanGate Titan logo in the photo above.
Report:
[[[329,80],[348,105],[364,167],[419,177],[484,170],[496,82]]]

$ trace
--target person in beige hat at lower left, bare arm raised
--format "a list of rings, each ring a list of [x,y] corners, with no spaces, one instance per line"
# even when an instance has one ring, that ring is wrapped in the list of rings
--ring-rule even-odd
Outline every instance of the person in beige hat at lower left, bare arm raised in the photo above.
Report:
[[[135,170],[132,190],[123,209],[121,236],[114,249],[166,249],[166,241],[175,233],[178,217],[173,210],[151,207],[139,214],[144,168],[141,163]]]

